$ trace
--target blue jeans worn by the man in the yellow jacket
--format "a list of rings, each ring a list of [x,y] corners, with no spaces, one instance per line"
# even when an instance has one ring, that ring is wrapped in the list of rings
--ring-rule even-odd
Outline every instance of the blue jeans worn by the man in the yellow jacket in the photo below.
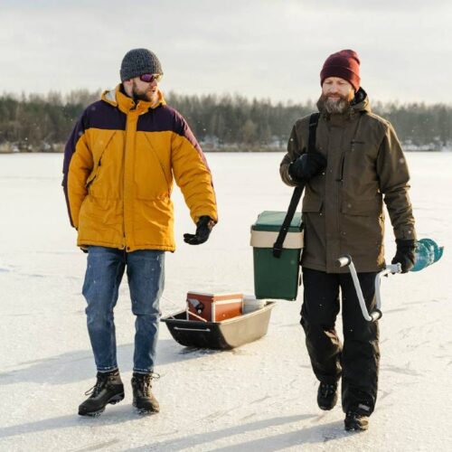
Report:
[[[165,252],[89,247],[83,284],[89,339],[99,372],[118,369],[113,309],[124,270],[135,322],[134,372],[154,371],[160,318],[159,302],[165,285]]]

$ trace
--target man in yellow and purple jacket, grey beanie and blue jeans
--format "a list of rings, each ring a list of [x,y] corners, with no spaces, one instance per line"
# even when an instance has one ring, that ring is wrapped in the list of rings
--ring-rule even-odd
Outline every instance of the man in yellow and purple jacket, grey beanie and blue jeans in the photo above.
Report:
[[[88,250],[83,284],[97,382],[79,414],[95,416],[124,399],[113,309],[127,267],[136,315],[134,406],[159,410],[150,391],[155,377],[159,299],[165,251],[174,251],[174,179],[184,194],[201,244],[217,221],[212,175],[185,119],[166,105],[154,52],[133,49],[120,69],[121,83],[85,109],[66,145],[63,188],[78,245]]]

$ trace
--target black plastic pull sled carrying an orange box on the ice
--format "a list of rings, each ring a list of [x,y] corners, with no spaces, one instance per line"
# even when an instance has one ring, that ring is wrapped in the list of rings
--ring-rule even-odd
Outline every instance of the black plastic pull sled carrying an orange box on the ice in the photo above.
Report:
[[[174,340],[181,345],[229,350],[256,341],[267,334],[273,306],[273,302],[264,302],[263,307],[248,314],[236,315],[220,322],[209,322],[193,315],[187,320],[186,310],[163,317],[161,321],[166,324]]]

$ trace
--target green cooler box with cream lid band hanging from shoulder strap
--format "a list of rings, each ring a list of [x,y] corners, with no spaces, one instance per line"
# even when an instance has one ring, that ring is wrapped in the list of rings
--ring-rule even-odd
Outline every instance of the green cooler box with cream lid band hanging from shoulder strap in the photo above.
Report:
[[[256,298],[295,300],[300,285],[300,256],[303,249],[301,212],[294,215],[279,258],[273,244],[287,212],[265,211],[251,226]]]

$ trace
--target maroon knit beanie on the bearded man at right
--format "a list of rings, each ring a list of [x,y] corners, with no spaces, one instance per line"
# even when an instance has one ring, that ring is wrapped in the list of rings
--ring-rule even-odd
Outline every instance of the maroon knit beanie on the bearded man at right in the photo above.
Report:
[[[340,77],[347,80],[355,91],[360,88],[360,59],[358,53],[345,50],[330,55],[320,72],[320,85],[328,77]]]

